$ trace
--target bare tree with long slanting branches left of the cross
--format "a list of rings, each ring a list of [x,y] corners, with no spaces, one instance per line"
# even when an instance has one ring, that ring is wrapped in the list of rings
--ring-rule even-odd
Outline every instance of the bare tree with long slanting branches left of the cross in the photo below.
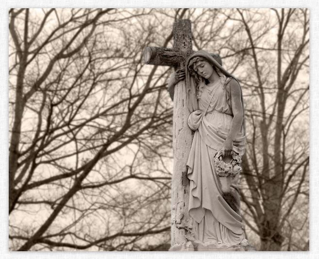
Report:
[[[10,10],[12,250],[168,242],[168,71],[142,51],[172,36],[156,38],[150,12]]]

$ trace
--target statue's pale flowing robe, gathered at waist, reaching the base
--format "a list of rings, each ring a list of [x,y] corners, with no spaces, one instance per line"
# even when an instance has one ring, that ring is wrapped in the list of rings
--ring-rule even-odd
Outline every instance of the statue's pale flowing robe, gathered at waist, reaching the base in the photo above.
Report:
[[[230,92],[220,82],[203,87],[200,110],[192,112],[188,125],[195,131],[188,156],[190,180],[188,212],[193,218],[195,239],[204,243],[239,244],[245,239],[240,215],[236,176],[220,177],[214,167],[214,155],[222,147],[233,120]],[[203,116],[209,103],[208,110]],[[203,118],[202,118],[203,116]],[[233,141],[233,150],[244,154],[242,127]]]

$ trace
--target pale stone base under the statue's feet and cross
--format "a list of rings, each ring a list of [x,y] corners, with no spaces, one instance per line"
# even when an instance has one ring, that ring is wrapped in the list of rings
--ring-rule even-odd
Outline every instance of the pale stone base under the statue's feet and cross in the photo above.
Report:
[[[172,246],[169,251],[256,251],[251,245],[205,244],[185,242]]]

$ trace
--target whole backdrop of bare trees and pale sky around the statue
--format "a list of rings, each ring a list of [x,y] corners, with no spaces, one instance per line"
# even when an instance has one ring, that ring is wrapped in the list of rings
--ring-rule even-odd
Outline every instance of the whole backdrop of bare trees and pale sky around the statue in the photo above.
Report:
[[[172,70],[142,52],[180,18],[243,88],[249,240],[308,249],[307,9],[12,9],[11,250],[168,249]]]

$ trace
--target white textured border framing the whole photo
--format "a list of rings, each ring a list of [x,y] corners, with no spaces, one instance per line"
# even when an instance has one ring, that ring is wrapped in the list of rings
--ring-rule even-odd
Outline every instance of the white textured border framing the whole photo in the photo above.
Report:
[[[309,8],[310,9],[310,252],[9,252],[8,10],[9,8]],[[0,17],[0,250],[9,259],[303,259],[319,258],[319,5],[317,0],[6,0]],[[181,254],[183,253],[183,254]]]

